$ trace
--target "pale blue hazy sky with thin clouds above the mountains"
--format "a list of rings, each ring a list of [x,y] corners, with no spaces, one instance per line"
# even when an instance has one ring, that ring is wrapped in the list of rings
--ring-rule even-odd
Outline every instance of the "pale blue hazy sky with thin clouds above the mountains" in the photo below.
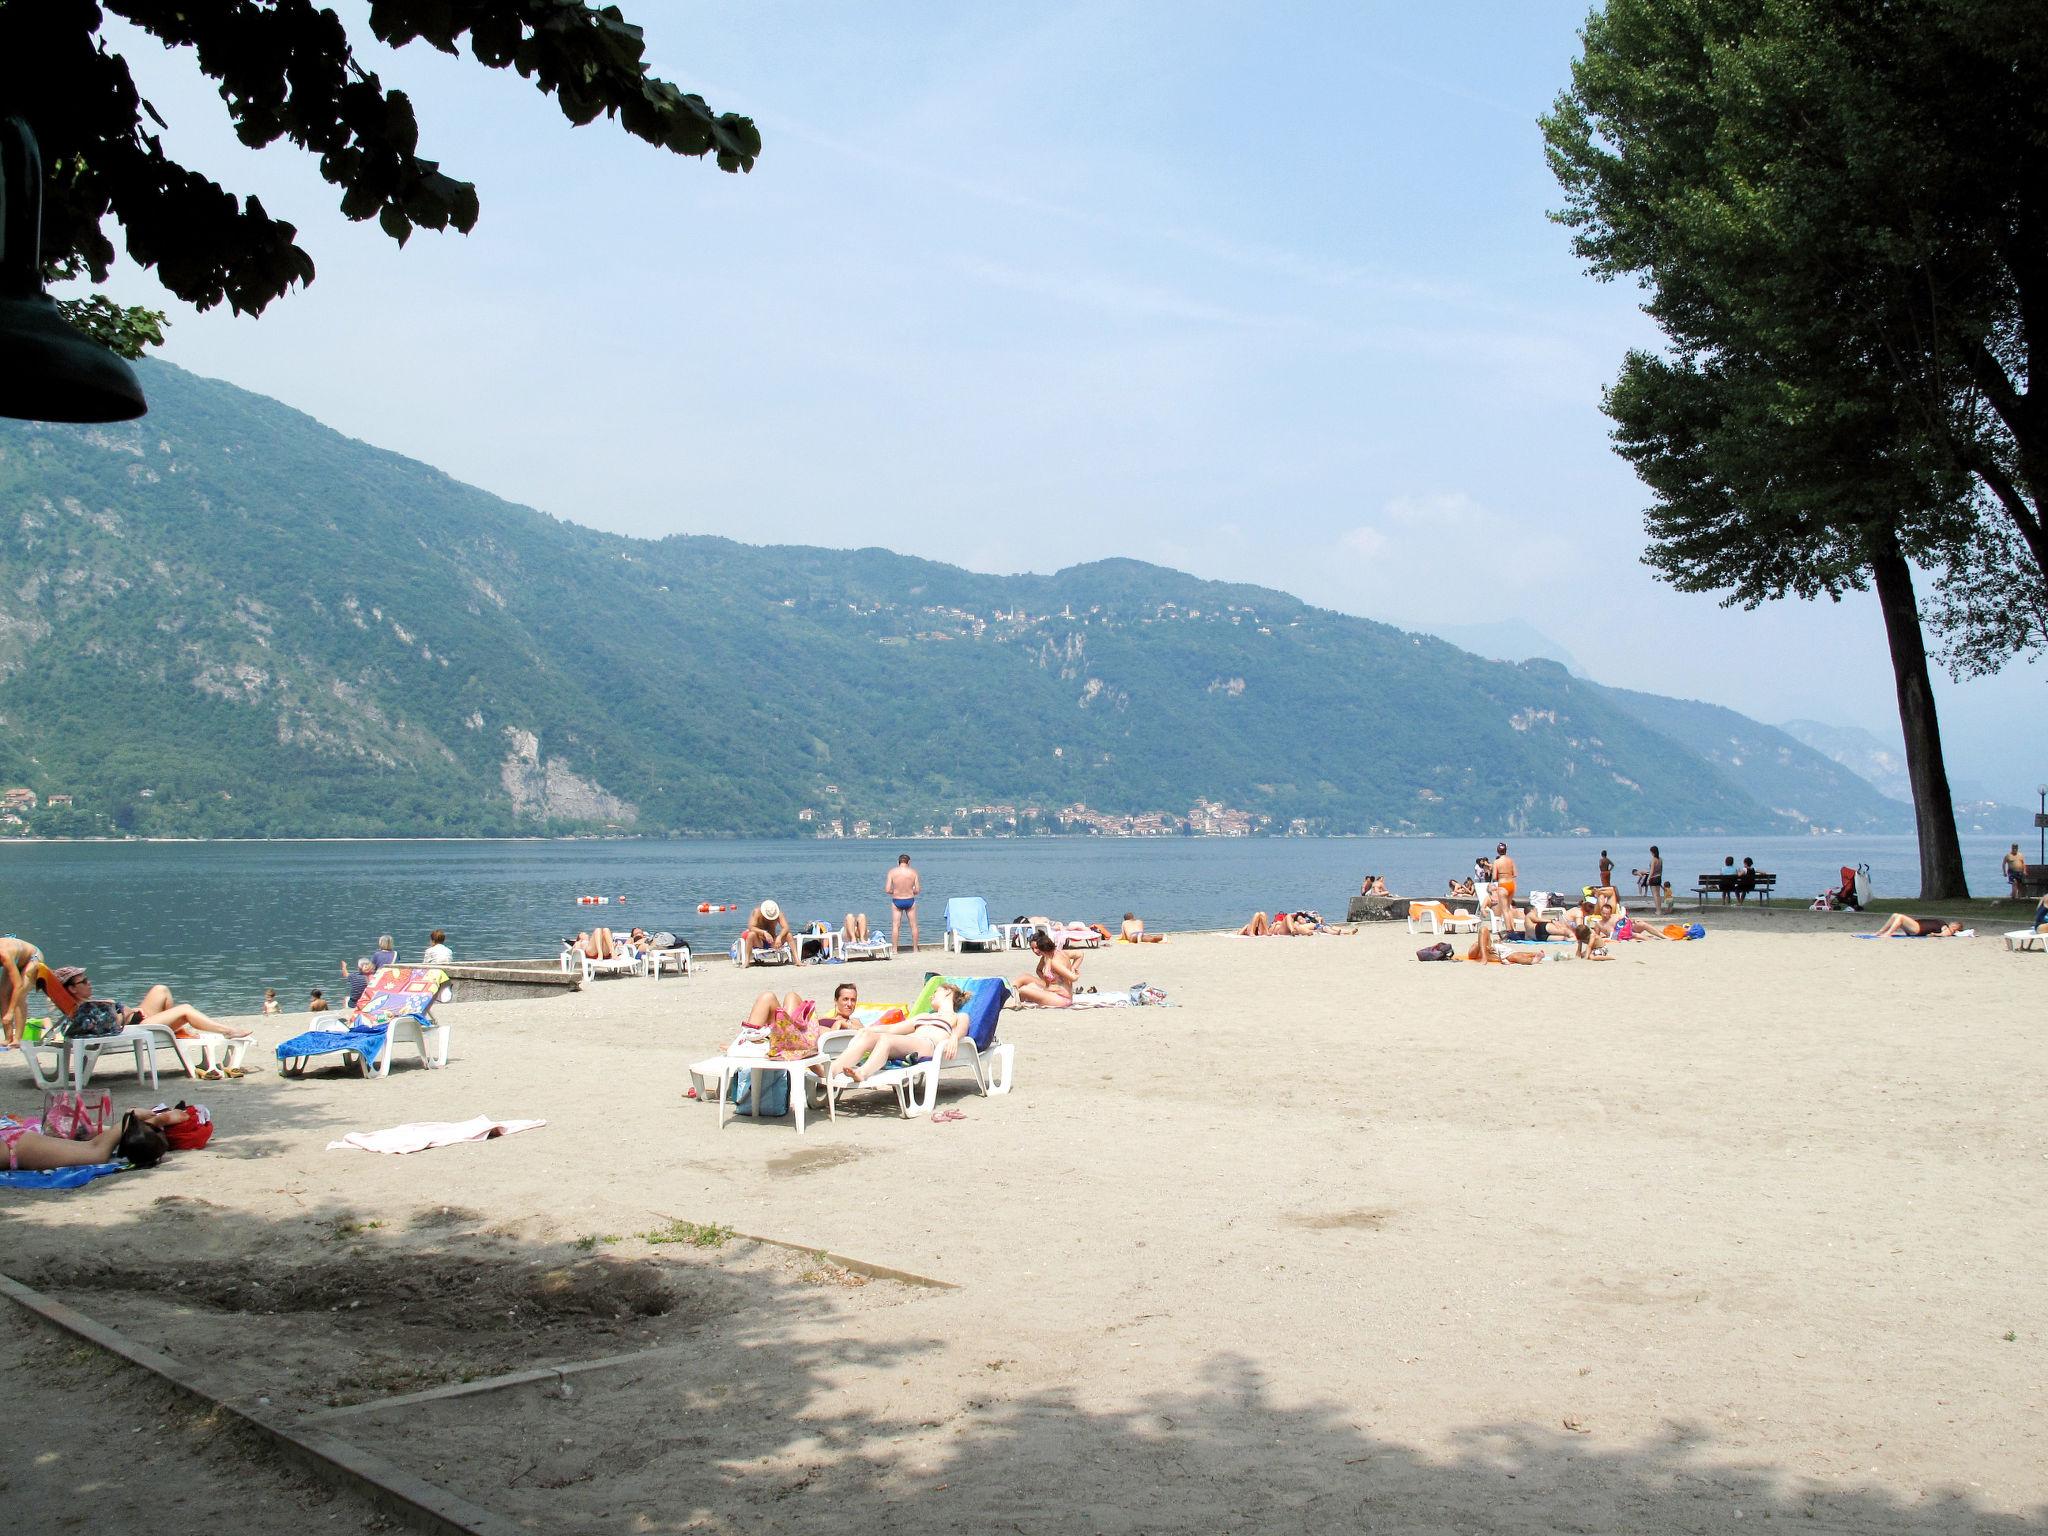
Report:
[[[1128,555],[1898,739],[1870,598],[1729,610],[1640,563],[1599,393],[1657,332],[1548,221],[1536,127],[1585,0],[618,2],[655,74],[760,123],[754,172],[383,49],[348,0],[483,203],[403,250],[111,20],[166,150],[297,223],[317,279],[260,319],[129,262],[109,291],[170,311],[172,362],[590,526]],[[1937,676],[1964,795],[2032,809],[2044,680]]]

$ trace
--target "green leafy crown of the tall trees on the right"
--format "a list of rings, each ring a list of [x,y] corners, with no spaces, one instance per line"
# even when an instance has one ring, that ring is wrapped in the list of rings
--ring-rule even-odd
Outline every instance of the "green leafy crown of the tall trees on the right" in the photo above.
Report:
[[[1853,584],[1858,506],[1903,514],[1909,553],[1946,573],[1952,659],[2036,643],[1987,629],[1968,594],[1997,557],[2025,608],[2048,596],[2040,6],[1610,0],[1544,135],[1577,252],[1640,281],[1671,344],[1630,358],[1612,397],[1636,416],[1618,414],[1624,453],[1651,432],[1638,469],[1665,453],[1694,489],[1747,481],[1720,530],[1757,512],[1784,541],[1763,588]],[[1741,590],[1712,575],[1712,537],[1651,528],[1667,575]]]

